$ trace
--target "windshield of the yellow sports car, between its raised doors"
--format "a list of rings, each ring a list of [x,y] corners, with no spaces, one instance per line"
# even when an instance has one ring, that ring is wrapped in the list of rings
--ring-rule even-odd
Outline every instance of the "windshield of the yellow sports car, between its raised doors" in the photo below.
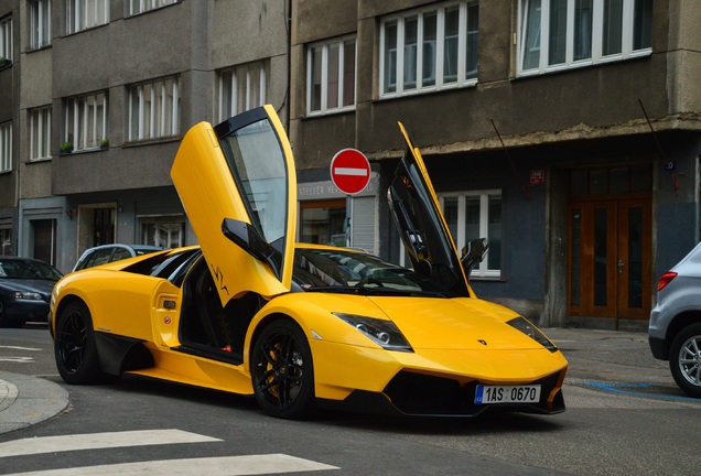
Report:
[[[412,270],[345,249],[298,249],[292,279],[305,291],[455,296]]]

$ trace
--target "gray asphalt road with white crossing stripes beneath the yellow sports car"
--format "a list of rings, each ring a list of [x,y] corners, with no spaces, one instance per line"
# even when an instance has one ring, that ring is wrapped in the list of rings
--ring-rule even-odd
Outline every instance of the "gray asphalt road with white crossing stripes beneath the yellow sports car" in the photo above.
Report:
[[[650,356],[645,334],[546,332],[570,361],[568,410],[560,415],[414,420],[322,413],[289,422],[266,416],[250,399],[138,378],[65,386],[45,329],[2,329],[0,372],[35,376],[62,389],[68,407],[0,434],[0,474],[698,472],[701,401],[677,389],[667,364]]]

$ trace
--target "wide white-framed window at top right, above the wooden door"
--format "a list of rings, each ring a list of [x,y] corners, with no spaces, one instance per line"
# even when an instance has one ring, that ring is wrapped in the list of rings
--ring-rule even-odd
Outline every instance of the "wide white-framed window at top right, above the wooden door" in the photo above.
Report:
[[[653,0],[520,0],[521,76],[651,54]]]

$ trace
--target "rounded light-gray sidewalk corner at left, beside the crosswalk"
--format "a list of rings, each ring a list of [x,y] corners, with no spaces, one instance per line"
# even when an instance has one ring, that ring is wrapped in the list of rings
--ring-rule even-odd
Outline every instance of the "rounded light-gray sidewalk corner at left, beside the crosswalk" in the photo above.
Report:
[[[31,426],[68,407],[68,392],[39,377],[0,371],[0,434]]]

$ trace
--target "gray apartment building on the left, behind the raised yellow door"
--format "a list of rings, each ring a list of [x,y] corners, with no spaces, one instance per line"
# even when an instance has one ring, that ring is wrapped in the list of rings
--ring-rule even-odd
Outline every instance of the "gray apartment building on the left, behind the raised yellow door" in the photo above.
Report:
[[[101,244],[194,244],[169,175],[182,136],[266,102],[287,117],[284,2],[2,8],[0,45],[13,52],[0,66],[0,143],[11,140],[0,162],[3,252],[68,271]]]

